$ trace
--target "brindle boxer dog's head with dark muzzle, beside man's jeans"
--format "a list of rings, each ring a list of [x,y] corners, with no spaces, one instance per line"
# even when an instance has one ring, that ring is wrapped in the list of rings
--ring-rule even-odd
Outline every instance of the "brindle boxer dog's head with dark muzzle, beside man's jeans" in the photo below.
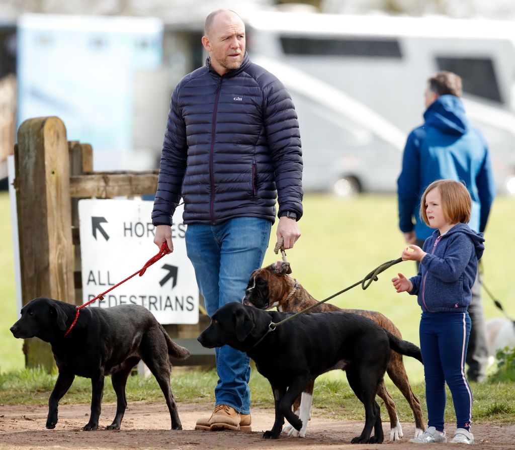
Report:
[[[277,306],[272,292],[282,292],[282,278],[291,273],[289,263],[278,261],[269,266],[254,270],[249,279],[243,304],[259,309],[269,309]]]

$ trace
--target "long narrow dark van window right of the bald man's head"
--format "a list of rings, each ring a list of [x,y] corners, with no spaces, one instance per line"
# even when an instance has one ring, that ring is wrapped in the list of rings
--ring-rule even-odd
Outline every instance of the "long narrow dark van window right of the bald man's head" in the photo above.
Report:
[[[286,55],[402,58],[401,47],[397,39],[337,38],[333,36],[316,38],[281,36],[280,39]]]

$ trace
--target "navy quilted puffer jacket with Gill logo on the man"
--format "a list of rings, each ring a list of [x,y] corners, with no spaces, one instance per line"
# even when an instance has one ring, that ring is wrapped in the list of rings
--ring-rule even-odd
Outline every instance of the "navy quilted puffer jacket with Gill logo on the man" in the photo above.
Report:
[[[245,54],[224,76],[206,65],[186,75],[172,97],[152,223],[171,225],[184,200],[184,223],[235,217],[302,216],[302,151],[293,101],[284,85]]]

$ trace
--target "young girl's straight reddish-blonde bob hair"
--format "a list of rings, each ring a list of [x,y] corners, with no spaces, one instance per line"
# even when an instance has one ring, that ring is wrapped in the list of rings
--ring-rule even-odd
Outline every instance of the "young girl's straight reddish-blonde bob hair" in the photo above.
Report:
[[[472,200],[464,184],[454,180],[436,180],[426,187],[420,200],[420,218],[429,225],[425,212],[425,198],[430,191],[438,188],[442,201],[442,211],[449,223],[468,223]]]

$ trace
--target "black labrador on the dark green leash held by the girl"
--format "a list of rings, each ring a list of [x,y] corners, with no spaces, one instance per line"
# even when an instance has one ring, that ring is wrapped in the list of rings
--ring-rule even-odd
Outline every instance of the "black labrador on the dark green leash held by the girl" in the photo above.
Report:
[[[383,442],[381,414],[375,402],[377,385],[383,380],[391,350],[422,361],[420,349],[374,321],[352,313],[302,314],[269,331],[271,322],[278,323],[289,316],[291,313],[229,303],[215,312],[198,341],[207,348],[228,344],[246,352],[268,379],[276,418],[263,438],[277,439],[284,418],[300,430],[302,421],[291,410],[295,399],[318,375],[342,369],[365,407],[363,432],[352,443]]]

